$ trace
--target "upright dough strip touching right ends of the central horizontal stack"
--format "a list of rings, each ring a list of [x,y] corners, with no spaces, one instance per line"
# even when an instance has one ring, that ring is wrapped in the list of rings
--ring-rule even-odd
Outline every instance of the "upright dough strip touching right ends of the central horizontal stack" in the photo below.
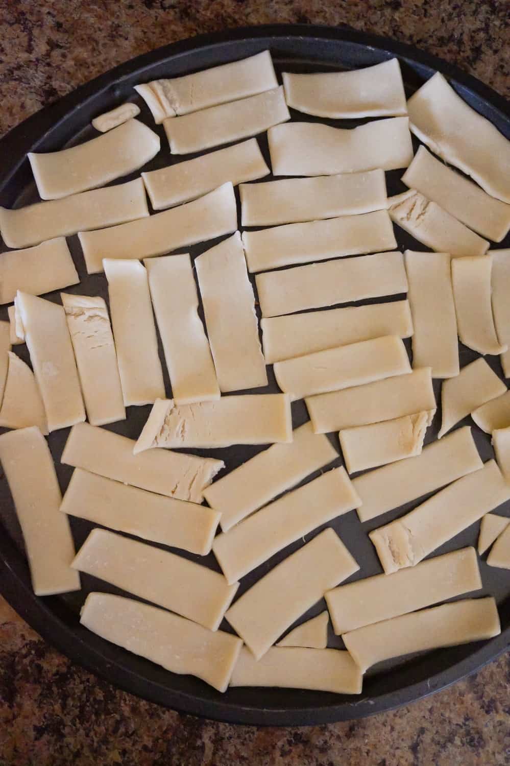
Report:
[[[413,366],[433,378],[459,375],[459,343],[449,253],[404,253],[413,316]]]

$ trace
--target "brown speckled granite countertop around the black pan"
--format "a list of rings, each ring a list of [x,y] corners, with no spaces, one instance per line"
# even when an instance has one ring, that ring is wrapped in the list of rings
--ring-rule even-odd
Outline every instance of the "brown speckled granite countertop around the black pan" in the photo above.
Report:
[[[510,95],[505,0],[0,0],[0,133],[133,56],[228,27],[348,25],[413,43]],[[0,766],[510,764],[510,656],[396,712],[311,728],[195,719],[55,651],[0,597]]]

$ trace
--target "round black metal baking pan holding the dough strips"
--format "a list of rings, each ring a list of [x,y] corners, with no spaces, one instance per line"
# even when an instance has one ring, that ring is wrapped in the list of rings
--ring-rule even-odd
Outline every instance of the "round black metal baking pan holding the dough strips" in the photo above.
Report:
[[[241,28],[221,34],[201,35],[128,61],[78,88],[57,103],[47,106],[11,130],[0,142],[2,155],[0,205],[18,207],[38,200],[26,158],[27,152],[51,152],[90,139],[95,135],[95,131],[90,126],[90,120],[125,100],[139,103],[142,109],[140,119],[157,130],[162,137],[162,151],[152,162],[145,165],[145,170],[188,159],[188,155],[184,158],[172,158],[162,126],[154,126],[149,110],[133,90],[133,85],[158,77],[175,77],[205,67],[235,61],[266,48],[269,48],[273,54],[280,80],[283,70],[315,72],[355,69],[397,56],[402,67],[407,95],[410,96],[417,87],[439,70],[448,77],[456,91],[474,109],[486,116],[505,136],[510,137],[508,106],[502,97],[456,67],[417,51],[414,47],[355,31],[327,27],[276,25]],[[292,116],[293,119],[299,120],[314,119],[294,112]],[[355,126],[365,121],[326,120],[325,122],[338,126]],[[269,160],[266,136],[258,138],[263,153]],[[138,174],[133,174],[132,177],[135,175]],[[400,175],[402,175],[400,171],[387,173],[388,194],[404,191],[405,187],[400,182]],[[416,250],[427,249],[400,228],[396,228],[396,235],[399,247],[402,249],[405,247]],[[68,237],[68,242],[82,281],[79,285],[68,288],[67,291],[106,296],[106,279],[103,275],[87,276],[77,237]],[[188,249],[191,250],[192,256],[196,256],[213,244],[216,243],[208,242]],[[505,246],[510,247],[510,240],[494,245],[494,247]],[[386,300],[396,300],[400,297],[402,296],[392,296]],[[47,298],[59,300],[58,293],[51,293]],[[2,308],[0,319],[6,319],[6,313],[6,307]],[[25,345],[15,346],[15,352],[28,361]],[[462,346],[460,352],[462,366],[476,358],[474,352]],[[500,377],[503,377],[499,358],[490,358],[489,362]],[[277,390],[271,368],[269,372],[270,386],[262,391]],[[439,394],[440,381],[435,381],[435,384],[436,394]],[[170,395],[168,377],[165,385],[167,394]],[[148,407],[129,408],[127,420],[113,424],[109,428],[119,434],[137,437],[148,412]],[[302,401],[294,403],[294,426],[307,419],[306,408]],[[429,429],[427,441],[436,436],[439,423],[440,411],[437,412],[433,426]],[[493,457],[489,437],[474,426],[473,432],[483,460]],[[68,466],[60,464],[60,455],[67,434],[66,429],[57,431],[49,437],[63,491],[67,487],[71,473]],[[330,438],[338,447],[338,436],[330,434]],[[225,450],[213,450],[211,454],[214,457],[223,458],[227,464],[227,470],[231,470],[260,449],[260,447],[231,447]],[[198,450],[196,451],[199,453]],[[336,464],[340,463],[339,457]],[[361,565],[360,571],[351,579],[374,575],[381,571],[367,532],[381,523],[396,518],[405,510],[416,506],[418,502],[421,501],[409,504],[406,508],[388,512],[383,517],[365,525],[361,525],[355,512],[348,513],[332,522],[331,525],[341,535]],[[510,516],[510,504],[499,509],[499,513]],[[76,545],[79,547],[93,525],[81,519],[71,519],[71,525]],[[317,532],[319,530],[308,535],[307,539],[312,538]],[[479,524],[477,523],[443,545],[433,555],[465,545],[476,545],[478,532]],[[243,578],[239,594],[250,588],[254,581],[300,545],[302,541],[289,546]],[[195,557],[189,555],[189,558]],[[201,561],[217,569],[213,555]],[[365,677],[363,692],[360,696],[307,692],[299,689],[229,689],[222,695],[198,679],[168,673],[161,667],[119,649],[82,628],[78,614],[87,593],[92,590],[119,592],[110,588],[109,585],[83,575],[83,588],[77,594],[35,597],[31,591],[28,566],[11,496],[5,478],[2,477],[0,480],[0,591],[18,613],[71,660],[103,676],[115,686],[182,712],[227,722],[306,725],[361,718],[412,702],[448,686],[466,676],[467,673],[472,673],[505,650],[510,638],[510,572],[489,568],[484,560],[480,561],[480,567],[484,587],[482,591],[477,591],[476,595],[495,595],[502,620],[502,633],[499,637],[463,647],[420,653],[407,657],[405,660],[385,663],[382,667],[377,666],[373,673],[368,673]],[[179,587],[180,584],[169,583],[168,586]],[[316,604],[309,610],[306,617],[312,617],[324,608],[324,602]],[[230,630],[225,621],[222,628]],[[331,628],[329,646],[342,646],[341,640],[331,633]]]

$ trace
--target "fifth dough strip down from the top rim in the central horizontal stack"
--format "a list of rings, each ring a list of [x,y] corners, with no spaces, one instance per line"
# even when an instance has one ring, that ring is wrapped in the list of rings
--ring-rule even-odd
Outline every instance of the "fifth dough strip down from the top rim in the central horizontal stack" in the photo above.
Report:
[[[407,292],[404,256],[378,253],[255,277],[262,316],[281,316]]]

